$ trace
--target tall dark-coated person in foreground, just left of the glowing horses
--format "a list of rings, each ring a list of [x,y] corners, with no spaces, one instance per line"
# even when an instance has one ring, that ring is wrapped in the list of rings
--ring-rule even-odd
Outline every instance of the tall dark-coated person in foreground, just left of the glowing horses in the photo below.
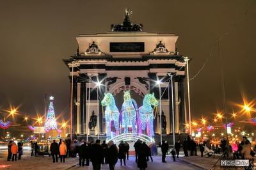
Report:
[[[90,160],[92,162],[93,169],[100,169],[103,159],[103,148],[100,145],[99,139],[96,140],[95,144],[92,144],[90,155]]]

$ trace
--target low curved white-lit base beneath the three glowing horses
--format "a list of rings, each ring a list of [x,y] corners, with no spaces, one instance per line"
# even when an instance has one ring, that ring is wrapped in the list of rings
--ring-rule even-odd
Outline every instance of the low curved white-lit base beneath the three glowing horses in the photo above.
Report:
[[[140,139],[141,141],[145,141],[146,143],[154,143],[154,137],[150,137],[148,135],[144,134],[138,134],[138,133],[127,133],[127,134],[120,134],[116,135],[115,137],[107,140],[113,141],[114,143],[120,143],[120,141],[137,141]]]

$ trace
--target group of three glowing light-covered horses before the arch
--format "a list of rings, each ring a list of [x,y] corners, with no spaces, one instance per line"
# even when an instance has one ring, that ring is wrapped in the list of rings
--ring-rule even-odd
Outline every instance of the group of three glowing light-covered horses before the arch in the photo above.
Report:
[[[151,138],[154,137],[154,109],[152,107],[155,108],[158,105],[154,93],[145,95],[143,105],[139,108],[136,101],[131,98],[129,90],[124,91],[124,103],[120,111],[111,93],[105,93],[101,104],[106,107],[104,117],[107,139],[119,134],[144,134]]]

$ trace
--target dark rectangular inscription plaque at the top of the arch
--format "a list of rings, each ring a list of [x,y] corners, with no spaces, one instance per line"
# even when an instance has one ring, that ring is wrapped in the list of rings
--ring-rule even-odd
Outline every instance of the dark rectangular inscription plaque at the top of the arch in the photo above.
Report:
[[[144,52],[144,42],[111,42],[110,52]]]

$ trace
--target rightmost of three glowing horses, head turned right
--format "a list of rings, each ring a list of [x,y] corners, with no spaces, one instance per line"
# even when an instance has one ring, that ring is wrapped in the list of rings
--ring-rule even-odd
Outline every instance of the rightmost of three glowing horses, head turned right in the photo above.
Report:
[[[147,127],[147,135],[150,137],[154,136],[154,114],[151,105],[154,105],[154,107],[158,105],[158,102],[154,97],[154,93],[145,95],[143,105],[139,108],[138,112],[139,133],[142,134],[142,130],[145,130]]]

